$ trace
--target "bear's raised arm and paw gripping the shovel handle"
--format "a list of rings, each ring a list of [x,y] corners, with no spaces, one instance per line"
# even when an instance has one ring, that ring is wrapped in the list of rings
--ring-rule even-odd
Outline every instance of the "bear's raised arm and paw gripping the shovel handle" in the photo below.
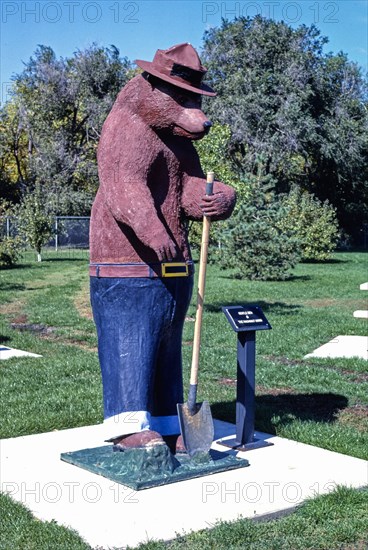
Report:
[[[181,206],[185,216],[191,220],[201,220],[203,214],[211,220],[225,220],[231,216],[236,203],[235,190],[229,185],[215,181],[213,197],[206,197],[206,178],[199,157],[193,147],[191,163],[183,174]]]

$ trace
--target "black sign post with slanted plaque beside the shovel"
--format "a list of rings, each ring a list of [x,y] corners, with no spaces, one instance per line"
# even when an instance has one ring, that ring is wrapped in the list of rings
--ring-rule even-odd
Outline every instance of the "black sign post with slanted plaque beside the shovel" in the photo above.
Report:
[[[242,451],[268,447],[273,443],[254,437],[256,331],[272,327],[259,306],[225,306],[222,311],[238,334],[236,436],[218,443]]]

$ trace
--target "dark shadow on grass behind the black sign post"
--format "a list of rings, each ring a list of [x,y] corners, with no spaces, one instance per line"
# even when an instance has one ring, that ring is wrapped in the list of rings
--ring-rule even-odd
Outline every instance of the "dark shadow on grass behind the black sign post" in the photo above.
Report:
[[[347,406],[348,399],[334,393],[257,395],[256,427],[266,433],[275,434],[276,426],[286,426],[294,420],[332,423]],[[215,403],[211,405],[211,409],[214,418],[235,422],[235,400]]]

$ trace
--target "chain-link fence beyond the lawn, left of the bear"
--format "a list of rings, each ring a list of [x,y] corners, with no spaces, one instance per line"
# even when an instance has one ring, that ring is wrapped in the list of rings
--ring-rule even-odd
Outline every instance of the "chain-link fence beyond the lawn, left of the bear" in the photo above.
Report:
[[[53,236],[45,245],[58,250],[59,248],[89,248],[88,216],[56,216],[54,219]],[[18,234],[17,219],[5,217],[0,219],[0,235],[16,237]]]

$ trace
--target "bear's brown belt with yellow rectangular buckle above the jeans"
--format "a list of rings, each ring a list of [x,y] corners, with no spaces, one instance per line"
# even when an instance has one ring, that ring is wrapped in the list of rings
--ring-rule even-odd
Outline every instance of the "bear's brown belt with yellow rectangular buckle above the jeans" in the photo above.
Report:
[[[193,262],[164,262],[161,264],[90,264],[91,277],[189,277],[194,273]]]

